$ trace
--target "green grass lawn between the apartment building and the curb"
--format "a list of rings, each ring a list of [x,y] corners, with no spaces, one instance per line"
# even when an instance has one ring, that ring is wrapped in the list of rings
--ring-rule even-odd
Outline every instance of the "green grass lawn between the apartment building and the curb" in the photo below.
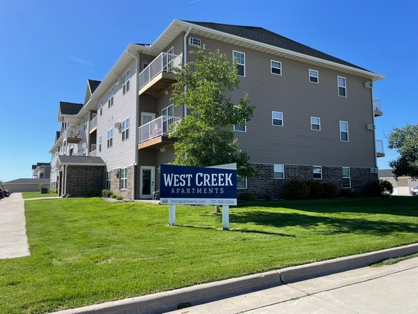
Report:
[[[25,202],[31,256],[0,260],[0,313],[46,313],[418,242],[417,197],[230,208]]]

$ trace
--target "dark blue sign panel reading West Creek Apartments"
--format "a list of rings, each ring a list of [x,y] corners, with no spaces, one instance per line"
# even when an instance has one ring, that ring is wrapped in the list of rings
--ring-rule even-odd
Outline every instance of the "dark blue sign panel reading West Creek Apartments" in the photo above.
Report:
[[[160,170],[161,204],[237,204],[236,167],[161,165]]]

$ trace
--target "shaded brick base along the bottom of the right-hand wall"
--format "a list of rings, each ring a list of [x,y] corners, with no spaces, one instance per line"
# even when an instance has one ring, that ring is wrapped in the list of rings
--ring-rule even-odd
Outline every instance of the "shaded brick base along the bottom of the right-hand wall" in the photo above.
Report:
[[[258,174],[247,179],[247,189],[238,190],[238,198],[242,193],[252,193],[256,200],[265,200],[270,195],[273,200],[278,200],[283,194],[284,186],[293,179],[302,181],[313,180],[312,166],[285,165],[284,178],[274,179],[274,165],[254,164]],[[321,182],[333,182],[339,190],[343,189],[342,167],[322,167],[323,179]],[[351,188],[364,190],[373,181],[378,180],[378,174],[371,174],[370,168],[350,167]]]

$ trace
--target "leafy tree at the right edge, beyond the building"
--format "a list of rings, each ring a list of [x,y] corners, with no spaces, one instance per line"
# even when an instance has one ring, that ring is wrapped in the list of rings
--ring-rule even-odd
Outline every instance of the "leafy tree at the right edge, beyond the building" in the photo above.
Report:
[[[387,140],[389,149],[396,149],[400,155],[389,161],[389,166],[394,169],[394,177],[418,179],[418,124],[392,128]]]

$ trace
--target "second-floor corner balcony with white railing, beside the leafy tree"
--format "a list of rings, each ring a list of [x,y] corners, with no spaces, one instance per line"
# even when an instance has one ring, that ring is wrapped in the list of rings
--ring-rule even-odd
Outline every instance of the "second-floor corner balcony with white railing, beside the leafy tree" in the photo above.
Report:
[[[176,142],[176,139],[169,138],[169,128],[171,124],[180,121],[178,117],[162,116],[144,124],[138,128],[138,149],[153,148],[157,149]]]

